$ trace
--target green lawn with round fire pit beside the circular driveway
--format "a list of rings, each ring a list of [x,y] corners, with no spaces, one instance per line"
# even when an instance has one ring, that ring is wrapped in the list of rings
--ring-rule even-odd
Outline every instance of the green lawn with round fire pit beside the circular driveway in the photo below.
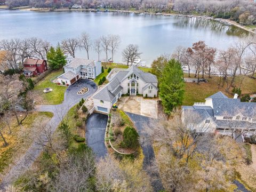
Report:
[[[37,104],[41,105],[57,105],[62,103],[64,99],[64,93],[67,90],[67,86],[57,85],[52,83],[51,81],[61,75],[63,70],[52,71],[49,75],[47,75],[42,81],[38,82],[35,85],[35,92],[41,96],[42,99],[39,100]],[[43,90],[47,87],[51,87],[53,89],[52,92],[44,93]]]

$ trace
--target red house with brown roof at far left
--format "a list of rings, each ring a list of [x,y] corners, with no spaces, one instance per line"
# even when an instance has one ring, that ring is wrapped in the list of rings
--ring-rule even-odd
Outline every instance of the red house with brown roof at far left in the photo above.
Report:
[[[23,73],[26,76],[43,74],[47,70],[47,62],[42,59],[26,59],[23,63]]]

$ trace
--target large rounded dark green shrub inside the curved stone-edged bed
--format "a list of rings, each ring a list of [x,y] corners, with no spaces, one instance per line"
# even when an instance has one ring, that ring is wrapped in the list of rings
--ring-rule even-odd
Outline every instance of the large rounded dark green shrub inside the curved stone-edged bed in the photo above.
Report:
[[[123,146],[129,148],[136,148],[138,146],[139,134],[133,127],[125,127],[123,132],[123,138]]]

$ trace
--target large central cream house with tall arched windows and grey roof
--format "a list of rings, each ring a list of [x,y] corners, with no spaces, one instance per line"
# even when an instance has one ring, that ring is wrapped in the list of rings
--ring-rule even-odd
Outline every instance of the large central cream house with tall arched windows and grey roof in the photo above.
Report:
[[[109,113],[111,107],[122,94],[144,97],[157,97],[157,78],[155,75],[145,73],[136,66],[131,66],[111,78],[112,80],[97,94],[93,96],[94,110]]]

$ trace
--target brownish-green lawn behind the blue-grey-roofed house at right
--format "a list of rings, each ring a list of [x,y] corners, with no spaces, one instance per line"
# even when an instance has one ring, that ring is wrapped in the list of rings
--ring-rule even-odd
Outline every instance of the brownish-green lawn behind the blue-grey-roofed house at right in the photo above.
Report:
[[[184,74],[187,77],[187,74]],[[190,75],[194,77],[194,75]],[[219,87],[219,77],[212,76],[212,78],[207,78],[207,83],[201,82],[199,85],[197,83],[186,83],[185,85],[185,97],[182,105],[193,105],[194,102],[205,102],[205,98],[210,95],[221,91],[225,93],[228,97],[232,98],[233,95],[226,93],[225,87]],[[239,87],[241,82],[241,77],[237,77],[235,85]],[[232,89],[232,87],[231,87]],[[230,89],[230,92],[231,92]],[[245,77],[241,86],[242,93],[251,93],[256,91],[256,80]]]

